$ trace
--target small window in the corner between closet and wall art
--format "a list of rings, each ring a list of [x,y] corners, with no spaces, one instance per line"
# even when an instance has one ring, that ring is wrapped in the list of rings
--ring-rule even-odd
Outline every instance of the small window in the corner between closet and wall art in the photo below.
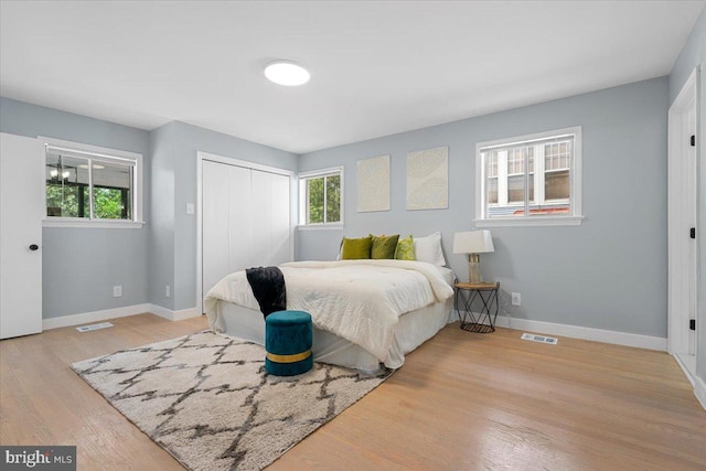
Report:
[[[299,202],[302,226],[343,224],[343,168],[300,173]]]

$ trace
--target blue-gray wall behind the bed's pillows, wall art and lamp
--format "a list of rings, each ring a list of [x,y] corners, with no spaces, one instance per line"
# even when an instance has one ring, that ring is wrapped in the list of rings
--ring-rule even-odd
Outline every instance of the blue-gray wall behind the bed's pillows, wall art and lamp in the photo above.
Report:
[[[501,281],[513,318],[665,338],[667,85],[655,78],[304,154],[300,171],[344,165],[345,226],[300,231],[298,258],[334,259],[343,235],[441,231],[447,261],[467,279],[451,244],[474,228],[475,143],[581,126],[582,225],[492,228],[483,275]],[[406,154],[438,146],[449,146],[449,208],[406,211]],[[356,213],[356,161],[382,154],[391,154],[391,211]],[[511,291],[522,307],[509,306]]]

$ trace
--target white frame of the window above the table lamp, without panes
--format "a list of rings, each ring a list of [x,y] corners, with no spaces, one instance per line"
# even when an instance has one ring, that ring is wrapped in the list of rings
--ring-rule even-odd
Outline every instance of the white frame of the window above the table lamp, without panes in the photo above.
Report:
[[[488,178],[485,175],[486,165],[482,157],[482,150],[496,147],[507,147],[511,144],[531,144],[532,141],[542,141],[552,138],[560,138],[561,136],[574,136],[574,154],[569,164],[569,214],[567,215],[503,215],[490,217],[488,214],[489,204],[486,202],[488,192],[486,183]],[[574,126],[569,128],[555,129],[550,131],[536,132],[532,135],[515,136],[510,138],[496,139],[492,141],[478,142],[475,144],[475,212],[473,221],[478,227],[504,227],[504,226],[578,226],[584,220],[582,206],[581,206],[581,127]],[[545,154],[533,154],[533,183],[534,183],[534,199],[535,202],[545,201],[545,182],[546,173],[553,170],[545,170]],[[528,167],[528,162],[523,165],[525,169]],[[502,169],[501,159],[498,159],[496,169],[496,189],[498,189],[498,202],[501,202],[501,191],[507,188],[507,170]],[[527,172],[525,171],[525,175]],[[502,182],[502,179],[505,182]],[[542,182],[541,185],[537,183]],[[518,207],[525,207],[525,204],[530,204],[526,199],[528,195],[528,180],[525,180],[525,201]],[[553,200],[555,201],[555,200]],[[560,201],[560,200],[556,200]],[[528,212],[525,212],[528,213]]]

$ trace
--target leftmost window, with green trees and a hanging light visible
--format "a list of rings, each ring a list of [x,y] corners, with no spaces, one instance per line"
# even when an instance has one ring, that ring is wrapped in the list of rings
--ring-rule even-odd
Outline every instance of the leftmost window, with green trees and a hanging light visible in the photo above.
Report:
[[[141,226],[141,154],[44,141],[46,226]]]

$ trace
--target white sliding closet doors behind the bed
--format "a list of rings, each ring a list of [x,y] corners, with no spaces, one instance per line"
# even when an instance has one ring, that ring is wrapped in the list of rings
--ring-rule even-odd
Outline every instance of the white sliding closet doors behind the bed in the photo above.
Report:
[[[204,160],[203,295],[221,278],[290,260],[289,176]]]

